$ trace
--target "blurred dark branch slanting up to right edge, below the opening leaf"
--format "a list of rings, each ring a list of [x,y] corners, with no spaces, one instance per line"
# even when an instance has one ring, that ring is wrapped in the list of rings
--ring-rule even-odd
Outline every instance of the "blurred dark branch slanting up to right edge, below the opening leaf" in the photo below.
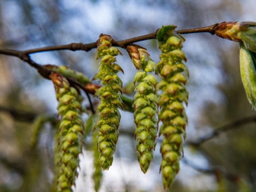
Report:
[[[196,142],[187,141],[185,144],[186,145],[199,146],[199,145],[203,144],[204,142],[206,142],[206,141],[208,141],[208,140],[210,140],[214,137],[217,137],[221,133],[224,133],[224,132],[226,132],[228,130],[231,130],[231,129],[237,129],[237,128],[239,128],[239,126],[241,126],[243,124],[247,124],[247,123],[256,123],[256,116],[246,117],[246,118],[240,119],[238,121],[228,123],[228,124],[224,125],[223,127],[215,129],[212,133],[209,133],[207,135],[202,136]]]

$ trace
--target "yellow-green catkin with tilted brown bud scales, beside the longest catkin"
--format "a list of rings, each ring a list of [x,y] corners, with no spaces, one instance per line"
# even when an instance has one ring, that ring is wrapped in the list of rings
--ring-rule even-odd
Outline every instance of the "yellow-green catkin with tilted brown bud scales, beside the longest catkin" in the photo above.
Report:
[[[148,74],[155,70],[156,64],[149,58],[145,48],[132,44],[126,49],[135,67],[140,69],[134,76],[133,107],[138,161],[140,169],[145,173],[153,159],[158,131],[158,94],[155,89],[158,80]]]

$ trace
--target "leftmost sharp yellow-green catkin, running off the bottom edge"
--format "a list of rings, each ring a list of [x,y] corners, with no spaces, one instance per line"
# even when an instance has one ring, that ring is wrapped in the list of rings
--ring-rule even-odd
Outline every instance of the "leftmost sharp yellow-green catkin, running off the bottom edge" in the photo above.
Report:
[[[61,116],[57,132],[56,162],[56,191],[71,192],[78,177],[79,154],[82,153],[83,122],[79,93],[71,87],[66,78],[53,73],[50,78],[54,84],[56,97],[59,102],[57,110]]]

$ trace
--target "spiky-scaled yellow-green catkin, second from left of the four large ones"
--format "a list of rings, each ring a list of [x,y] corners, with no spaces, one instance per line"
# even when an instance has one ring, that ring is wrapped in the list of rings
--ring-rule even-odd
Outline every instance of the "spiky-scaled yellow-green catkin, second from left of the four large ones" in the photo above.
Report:
[[[116,74],[123,70],[114,63],[116,61],[114,56],[118,55],[119,51],[111,46],[112,42],[114,41],[111,36],[100,35],[97,41],[97,58],[101,58],[100,68],[93,78],[100,80],[102,85],[95,93],[95,96],[100,99],[96,109],[99,120],[95,125],[95,130],[98,130],[97,146],[100,151],[100,166],[103,170],[109,169],[113,162],[121,118],[118,108],[122,108],[120,98],[122,81]]]

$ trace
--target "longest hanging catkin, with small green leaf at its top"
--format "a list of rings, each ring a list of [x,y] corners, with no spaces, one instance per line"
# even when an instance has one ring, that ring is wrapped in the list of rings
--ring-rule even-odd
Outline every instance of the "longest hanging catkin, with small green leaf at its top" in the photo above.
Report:
[[[156,67],[156,74],[160,74],[162,79],[156,89],[161,90],[158,118],[162,125],[159,135],[163,134],[164,139],[160,147],[160,171],[165,189],[170,187],[180,169],[179,161],[183,153],[182,143],[186,137],[187,125],[183,102],[187,104],[188,99],[185,87],[188,69],[182,63],[183,60],[186,61],[186,57],[181,50],[184,39],[175,34],[174,29],[175,26],[162,27],[156,37],[162,51]]]

